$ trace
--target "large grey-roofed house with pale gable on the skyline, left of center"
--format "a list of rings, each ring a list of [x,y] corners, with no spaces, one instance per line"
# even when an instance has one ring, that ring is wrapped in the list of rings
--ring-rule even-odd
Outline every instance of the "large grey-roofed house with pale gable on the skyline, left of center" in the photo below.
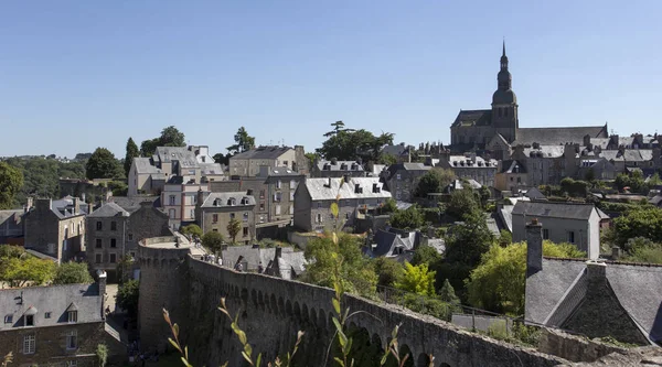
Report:
[[[309,161],[301,145],[263,145],[231,156],[228,173],[239,177],[256,176],[260,166],[287,168],[307,174]]]

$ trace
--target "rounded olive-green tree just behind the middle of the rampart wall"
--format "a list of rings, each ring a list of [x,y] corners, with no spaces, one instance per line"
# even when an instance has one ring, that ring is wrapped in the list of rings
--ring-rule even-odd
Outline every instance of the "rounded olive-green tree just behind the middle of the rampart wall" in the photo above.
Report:
[[[344,290],[361,295],[373,295],[377,283],[377,274],[367,259],[361,252],[361,242],[346,234],[332,234],[338,238],[338,245],[333,242],[333,236],[312,239],[303,256],[309,261],[303,280],[306,282],[332,287],[333,269],[341,260],[339,269],[340,282]]]

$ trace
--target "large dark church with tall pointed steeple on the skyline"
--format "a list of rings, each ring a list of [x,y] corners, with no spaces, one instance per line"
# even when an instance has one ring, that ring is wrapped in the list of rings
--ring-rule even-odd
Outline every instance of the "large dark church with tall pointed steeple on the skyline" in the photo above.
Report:
[[[491,109],[460,110],[450,127],[451,151],[482,151],[498,160],[509,159],[516,145],[581,144],[585,137],[609,138],[607,123],[592,127],[520,128],[517,97],[508,69],[505,42],[496,75]],[[587,137],[587,138],[588,138]]]

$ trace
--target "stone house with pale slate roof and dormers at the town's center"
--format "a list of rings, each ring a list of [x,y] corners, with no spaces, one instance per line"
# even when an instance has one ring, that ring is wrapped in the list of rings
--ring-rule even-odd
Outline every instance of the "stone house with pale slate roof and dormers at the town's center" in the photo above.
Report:
[[[305,231],[322,231],[354,227],[356,219],[391,198],[378,177],[306,179],[295,193],[295,227]],[[331,204],[339,201],[339,217]]]

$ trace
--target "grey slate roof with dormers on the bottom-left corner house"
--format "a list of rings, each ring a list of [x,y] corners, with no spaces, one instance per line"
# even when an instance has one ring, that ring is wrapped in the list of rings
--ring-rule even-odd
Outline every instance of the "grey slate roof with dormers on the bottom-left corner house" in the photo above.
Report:
[[[22,304],[20,303],[22,294]],[[35,310],[34,326],[55,326],[68,324],[67,307],[76,304],[78,324],[103,322],[102,296],[98,284],[66,284],[50,287],[28,287],[0,290],[0,310],[2,317],[12,315],[12,323],[0,323],[0,331],[22,328],[22,315],[32,307]],[[45,313],[51,312],[51,319]]]

